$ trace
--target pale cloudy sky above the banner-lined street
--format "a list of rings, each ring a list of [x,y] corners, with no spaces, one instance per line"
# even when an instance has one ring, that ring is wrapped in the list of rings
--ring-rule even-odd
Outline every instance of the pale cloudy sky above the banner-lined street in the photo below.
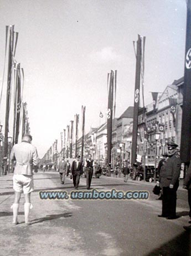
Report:
[[[86,132],[100,124],[111,69],[117,70],[116,117],[133,105],[138,34],[146,36],[146,103],[152,101],[150,91],[162,92],[184,74],[184,0],[0,0],[0,17],[1,84],[6,25],[14,24],[16,59],[25,74],[23,100],[40,157],[55,139],[60,142],[60,131],[76,113],[81,129],[81,105]],[[2,107],[3,125],[4,112]]]

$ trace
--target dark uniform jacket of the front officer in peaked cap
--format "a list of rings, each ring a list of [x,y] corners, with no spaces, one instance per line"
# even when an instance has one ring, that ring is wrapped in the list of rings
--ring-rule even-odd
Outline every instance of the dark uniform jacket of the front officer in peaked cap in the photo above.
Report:
[[[164,164],[164,184],[163,187],[169,187],[170,184],[177,185],[180,176],[181,161],[178,155],[168,157]]]

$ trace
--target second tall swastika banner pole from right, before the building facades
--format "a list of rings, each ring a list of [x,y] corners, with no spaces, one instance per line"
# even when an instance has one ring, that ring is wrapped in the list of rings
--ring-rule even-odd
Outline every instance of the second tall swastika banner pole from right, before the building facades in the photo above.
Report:
[[[137,131],[138,131],[138,107],[140,103],[140,79],[141,79],[141,37],[138,35],[136,53],[136,78],[135,78],[135,99],[133,109],[133,134],[131,164],[137,159]]]

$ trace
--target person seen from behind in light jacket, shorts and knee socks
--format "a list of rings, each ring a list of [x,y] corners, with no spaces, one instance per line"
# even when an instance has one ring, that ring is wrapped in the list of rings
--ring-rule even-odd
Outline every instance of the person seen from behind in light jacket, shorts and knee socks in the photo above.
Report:
[[[13,224],[18,224],[18,210],[21,193],[24,193],[24,218],[25,224],[29,225],[29,213],[32,209],[30,193],[34,190],[32,166],[37,166],[39,157],[37,149],[31,144],[32,136],[25,134],[22,142],[13,146],[10,159],[16,161],[13,173],[14,203]]]

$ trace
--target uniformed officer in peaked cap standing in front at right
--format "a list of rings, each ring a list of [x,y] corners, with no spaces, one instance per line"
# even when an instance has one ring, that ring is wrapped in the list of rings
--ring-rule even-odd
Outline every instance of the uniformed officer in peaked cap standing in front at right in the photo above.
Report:
[[[180,158],[176,153],[177,147],[174,142],[167,143],[168,159],[164,165],[162,215],[158,215],[167,219],[177,218],[175,208],[181,166]]]

